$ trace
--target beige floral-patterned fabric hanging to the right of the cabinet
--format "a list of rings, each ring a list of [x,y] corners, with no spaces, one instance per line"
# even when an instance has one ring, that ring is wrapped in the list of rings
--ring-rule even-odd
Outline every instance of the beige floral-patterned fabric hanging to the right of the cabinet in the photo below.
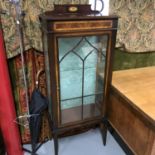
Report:
[[[120,16],[117,47],[130,52],[155,51],[154,0],[110,0],[110,12]]]

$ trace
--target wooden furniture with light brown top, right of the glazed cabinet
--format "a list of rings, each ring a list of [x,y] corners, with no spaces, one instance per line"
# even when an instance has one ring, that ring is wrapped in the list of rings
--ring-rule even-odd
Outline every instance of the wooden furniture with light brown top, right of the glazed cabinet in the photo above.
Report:
[[[111,126],[137,155],[155,155],[155,66],[113,72]]]

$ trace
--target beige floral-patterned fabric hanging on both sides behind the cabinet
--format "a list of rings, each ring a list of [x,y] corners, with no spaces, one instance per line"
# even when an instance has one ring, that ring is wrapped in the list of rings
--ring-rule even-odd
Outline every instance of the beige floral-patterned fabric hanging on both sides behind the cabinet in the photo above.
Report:
[[[38,15],[53,9],[53,4],[81,3],[88,0],[21,0],[25,11],[25,50],[34,47],[42,51],[40,22]],[[15,23],[15,9],[9,0],[1,0],[2,10],[11,10],[10,15],[1,15],[7,57],[19,53],[19,37]],[[120,16],[117,47],[125,46],[130,52],[155,51],[155,7],[154,0],[110,0],[110,12]]]

